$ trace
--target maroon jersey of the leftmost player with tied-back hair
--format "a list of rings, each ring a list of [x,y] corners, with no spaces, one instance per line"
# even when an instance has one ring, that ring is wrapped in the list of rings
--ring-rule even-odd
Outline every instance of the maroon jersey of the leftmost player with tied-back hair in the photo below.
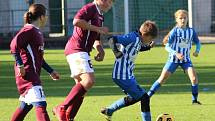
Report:
[[[26,24],[13,38],[10,44],[11,53],[19,53],[26,71],[25,76],[18,77],[15,64],[16,84],[20,94],[35,85],[41,85],[40,71],[43,63],[44,40],[38,28]]]

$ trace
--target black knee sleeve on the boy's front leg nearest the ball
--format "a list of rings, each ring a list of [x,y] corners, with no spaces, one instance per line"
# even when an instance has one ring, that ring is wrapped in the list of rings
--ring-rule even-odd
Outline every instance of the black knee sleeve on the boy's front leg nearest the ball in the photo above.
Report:
[[[141,111],[150,112],[150,98],[147,93],[145,93],[141,98]]]

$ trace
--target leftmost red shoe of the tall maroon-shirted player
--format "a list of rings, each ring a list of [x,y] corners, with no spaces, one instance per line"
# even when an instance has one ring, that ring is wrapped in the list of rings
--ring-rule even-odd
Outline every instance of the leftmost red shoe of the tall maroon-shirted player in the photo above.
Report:
[[[59,121],[67,121],[66,120],[66,110],[63,106],[54,107],[52,110],[53,114],[56,115]]]

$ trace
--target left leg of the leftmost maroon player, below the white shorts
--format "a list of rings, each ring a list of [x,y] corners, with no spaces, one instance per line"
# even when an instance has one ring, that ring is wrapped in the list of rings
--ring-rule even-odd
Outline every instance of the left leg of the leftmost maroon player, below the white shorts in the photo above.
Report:
[[[27,113],[32,109],[32,107],[32,105],[28,105],[27,103],[21,101],[20,107],[18,107],[13,113],[11,121],[23,121]]]

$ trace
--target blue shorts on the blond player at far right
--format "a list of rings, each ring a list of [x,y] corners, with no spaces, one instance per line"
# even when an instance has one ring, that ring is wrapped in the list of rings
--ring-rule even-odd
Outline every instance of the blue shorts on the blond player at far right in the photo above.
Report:
[[[178,66],[181,66],[181,68],[183,70],[187,70],[189,67],[193,67],[192,62],[184,62],[184,63],[174,63],[174,62],[169,62],[167,61],[164,69],[166,69],[167,71],[174,73],[175,70],[178,68]]]

